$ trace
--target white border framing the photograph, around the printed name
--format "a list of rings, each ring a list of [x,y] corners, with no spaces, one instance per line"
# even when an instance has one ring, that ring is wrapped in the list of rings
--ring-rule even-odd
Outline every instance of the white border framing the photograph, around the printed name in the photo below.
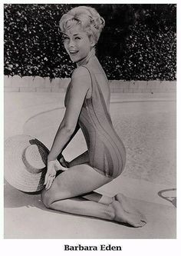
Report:
[[[25,4],[25,3],[29,3],[29,4],[77,4],[77,3],[91,3],[91,4],[100,4],[100,3],[105,3],[105,4],[177,4],[177,45],[181,45],[180,44],[180,38],[179,38],[179,30],[180,30],[180,8],[179,8],[179,0],[177,1],[90,1],[90,2],[85,2],[85,1],[6,1],[6,2],[1,2],[0,4],[0,18],[1,18],[1,23],[0,23],[0,32],[1,32],[1,40],[2,40],[2,45],[3,45],[3,5],[4,4]],[[2,60],[2,65],[1,65],[1,92],[0,92],[0,104],[1,104],[1,118],[2,120],[4,119],[4,109],[3,109],[3,47],[1,47],[1,52],[0,52],[0,56],[1,56],[1,60]],[[180,141],[180,137],[179,137],[179,131],[180,131],[180,127],[179,127],[179,110],[180,108],[180,103],[179,103],[179,93],[180,93],[180,78],[179,78],[179,57],[180,57],[180,50],[179,47],[177,47],[177,154],[180,151],[179,148],[179,141]],[[1,235],[1,240],[0,240],[0,248],[1,248],[1,254],[3,255],[17,255],[17,256],[32,256],[32,255],[87,255],[87,254],[104,254],[104,255],[115,255],[115,254],[119,254],[119,255],[146,255],[146,256],[153,256],[153,255],[164,255],[164,256],[170,256],[170,254],[172,255],[178,255],[180,252],[179,249],[179,238],[180,238],[180,233],[179,233],[179,209],[177,210],[177,239],[165,239],[165,240],[161,240],[161,239],[109,239],[109,240],[92,240],[92,239],[81,239],[81,240],[76,240],[76,239],[70,239],[70,240],[61,240],[61,239],[26,239],[26,240],[21,240],[21,239],[3,239],[3,121],[2,121],[2,127],[1,127],[1,148],[0,148],[0,152],[1,152],[1,157],[0,157],[0,162],[2,165],[1,168],[1,191],[0,191],[0,202],[1,202],[1,218],[0,218],[0,235]],[[180,192],[179,192],[179,156],[177,156],[177,197],[179,196]],[[178,207],[179,208],[179,207]],[[61,228],[61,227],[60,227]],[[120,245],[122,246],[123,251],[63,251],[63,246],[64,244],[90,244],[90,245],[96,245],[96,244],[101,244],[101,243],[110,243],[110,244],[115,244],[115,245]]]

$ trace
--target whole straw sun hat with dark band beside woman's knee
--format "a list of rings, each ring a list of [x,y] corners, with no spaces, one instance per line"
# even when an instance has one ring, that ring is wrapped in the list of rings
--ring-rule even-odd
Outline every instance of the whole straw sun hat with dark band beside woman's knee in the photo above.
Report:
[[[5,141],[5,180],[25,192],[41,191],[47,171],[48,148],[29,135]]]

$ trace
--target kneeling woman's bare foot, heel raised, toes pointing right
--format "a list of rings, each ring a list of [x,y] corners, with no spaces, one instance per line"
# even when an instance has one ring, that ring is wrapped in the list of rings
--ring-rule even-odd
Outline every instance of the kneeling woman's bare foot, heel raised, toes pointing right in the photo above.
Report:
[[[126,196],[117,194],[114,198],[112,206],[115,210],[115,221],[131,224],[137,228],[146,224],[146,217],[133,207]]]

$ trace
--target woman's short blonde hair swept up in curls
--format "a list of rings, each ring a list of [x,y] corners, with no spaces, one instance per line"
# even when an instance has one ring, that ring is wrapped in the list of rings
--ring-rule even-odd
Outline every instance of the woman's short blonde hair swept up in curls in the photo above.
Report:
[[[100,32],[104,28],[105,21],[96,9],[87,6],[79,6],[72,8],[71,11],[67,12],[61,17],[59,22],[61,32],[65,32],[67,29],[74,25],[81,25],[84,32],[88,35],[93,35],[94,40],[97,43]]]

